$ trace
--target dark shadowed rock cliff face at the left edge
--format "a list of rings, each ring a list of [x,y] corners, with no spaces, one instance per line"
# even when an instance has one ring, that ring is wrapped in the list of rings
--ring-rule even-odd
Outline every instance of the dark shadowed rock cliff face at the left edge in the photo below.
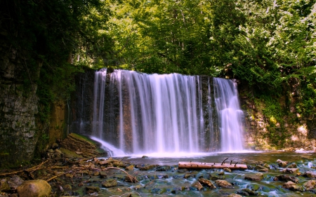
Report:
[[[30,161],[37,144],[38,113],[35,83],[25,84],[25,76],[36,81],[38,71],[30,72],[22,55],[0,46],[0,166]],[[40,64],[39,64],[40,67]],[[39,69],[38,69],[39,70]],[[28,78],[28,79],[29,79]]]

